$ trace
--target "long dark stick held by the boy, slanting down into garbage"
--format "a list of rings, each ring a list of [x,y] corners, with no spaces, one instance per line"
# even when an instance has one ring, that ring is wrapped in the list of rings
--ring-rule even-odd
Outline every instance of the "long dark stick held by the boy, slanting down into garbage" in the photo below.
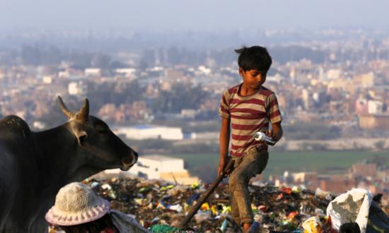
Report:
[[[221,174],[219,174],[219,176],[216,178],[214,183],[211,184],[211,187],[208,189],[208,191],[203,193],[202,196],[197,200],[196,205],[194,205],[192,207],[192,209],[190,209],[189,213],[185,216],[185,219],[182,220],[182,222],[178,226],[179,228],[185,227],[188,224],[188,222],[190,222],[193,215],[195,213],[197,213],[197,210],[199,210],[199,208],[202,206],[202,204],[205,201],[207,201],[207,198],[209,197],[209,195],[211,195],[211,193],[213,193],[215,191],[216,187],[220,184],[220,182],[223,180],[223,178],[226,177],[226,172],[232,168],[233,168],[233,160],[230,160],[230,161],[228,161],[223,172]]]

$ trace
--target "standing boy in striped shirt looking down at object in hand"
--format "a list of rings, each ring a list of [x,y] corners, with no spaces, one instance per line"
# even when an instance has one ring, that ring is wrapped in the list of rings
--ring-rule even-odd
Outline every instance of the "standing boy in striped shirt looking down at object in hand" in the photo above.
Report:
[[[243,83],[226,90],[221,97],[218,174],[228,162],[231,133],[230,153],[231,159],[235,160],[235,168],[228,181],[231,214],[233,220],[243,227],[243,232],[247,232],[253,222],[248,181],[265,169],[269,157],[267,144],[255,141],[253,136],[257,131],[262,131],[277,143],[282,136],[282,128],[277,97],[262,86],[272,65],[267,49],[260,46],[242,47],[235,52],[239,54],[239,74]],[[272,124],[270,131],[269,122]]]

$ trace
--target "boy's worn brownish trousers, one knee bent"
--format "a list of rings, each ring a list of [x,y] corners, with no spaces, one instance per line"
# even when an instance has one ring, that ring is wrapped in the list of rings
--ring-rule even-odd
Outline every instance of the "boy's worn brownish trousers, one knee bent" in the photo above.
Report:
[[[242,157],[233,157],[235,168],[231,172],[228,186],[231,193],[231,214],[238,225],[254,222],[248,182],[256,174],[262,173],[268,159],[267,150],[258,151],[257,148],[250,148]]]

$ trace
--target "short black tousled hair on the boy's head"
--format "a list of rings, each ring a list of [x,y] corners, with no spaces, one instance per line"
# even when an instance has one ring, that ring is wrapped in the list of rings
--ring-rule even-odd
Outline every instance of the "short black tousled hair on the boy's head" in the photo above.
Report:
[[[267,72],[272,65],[272,57],[265,47],[243,46],[240,49],[235,49],[235,52],[239,54],[238,65],[243,71],[255,69],[257,71]]]

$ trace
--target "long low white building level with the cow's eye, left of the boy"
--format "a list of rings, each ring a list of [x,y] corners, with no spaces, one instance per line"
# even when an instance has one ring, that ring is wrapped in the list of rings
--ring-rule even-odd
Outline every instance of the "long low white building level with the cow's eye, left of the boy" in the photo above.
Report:
[[[116,134],[124,134],[126,138],[144,140],[144,139],[165,139],[165,140],[182,140],[184,133],[179,127],[166,126],[132,126],[120,127],[113,130]]]

